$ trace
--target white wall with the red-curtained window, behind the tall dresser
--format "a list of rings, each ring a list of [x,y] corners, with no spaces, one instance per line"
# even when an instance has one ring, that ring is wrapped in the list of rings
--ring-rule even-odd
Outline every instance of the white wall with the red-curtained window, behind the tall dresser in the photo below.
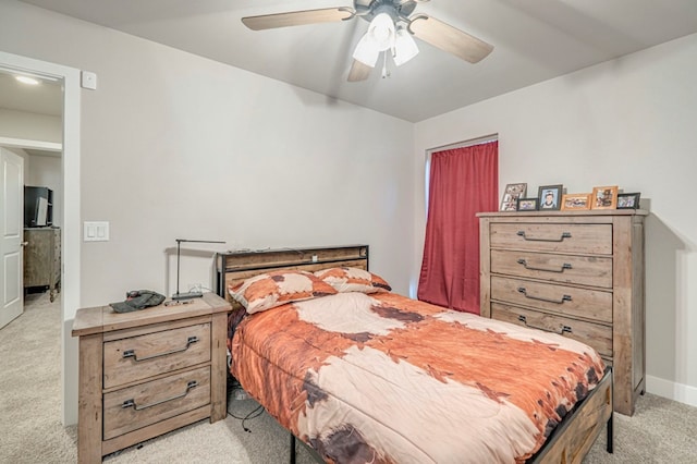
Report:
[[[647,389],[697,405],[697,35],[472,105],[415,126],[415,262],[425,151],[499,134],[499,184],[640,192],[646,221]],[[690,337],[690,334],[693,334]],[[692,356],[690,356],[692,354]]]

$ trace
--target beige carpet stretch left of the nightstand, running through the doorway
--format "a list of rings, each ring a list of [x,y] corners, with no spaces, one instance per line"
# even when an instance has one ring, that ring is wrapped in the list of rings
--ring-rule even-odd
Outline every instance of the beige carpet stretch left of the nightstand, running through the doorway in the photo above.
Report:
[[[48,292],[0,330],[0,463],[76,462],[75,427],[61,425],[61,317]]]

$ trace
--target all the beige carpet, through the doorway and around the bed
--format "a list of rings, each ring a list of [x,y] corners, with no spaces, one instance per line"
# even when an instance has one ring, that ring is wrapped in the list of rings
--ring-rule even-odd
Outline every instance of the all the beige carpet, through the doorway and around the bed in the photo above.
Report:
[[[48,294],[28,295],[20,318],[0,330],[0,463],[73,463],[76,428],[60,423],[60,308]],[[252,400],[232,400],[244,417]],[[600,437],[584,463],[697,463],[697,408],[647,394],[636,414],[615,414],[614,454]],[[266,413],[244,423],[201,420],[105,457],[117,463],[288,462],[289,435]],[[298,445],[298,464],[315,463]]]

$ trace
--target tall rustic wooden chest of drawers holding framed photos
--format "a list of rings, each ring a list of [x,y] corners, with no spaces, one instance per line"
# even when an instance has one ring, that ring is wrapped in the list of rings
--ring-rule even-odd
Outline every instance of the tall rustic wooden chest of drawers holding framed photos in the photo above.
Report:
[[[479,213],[481,315],[579,340],[613,366],[614,408],[646,386],[643,210]]]

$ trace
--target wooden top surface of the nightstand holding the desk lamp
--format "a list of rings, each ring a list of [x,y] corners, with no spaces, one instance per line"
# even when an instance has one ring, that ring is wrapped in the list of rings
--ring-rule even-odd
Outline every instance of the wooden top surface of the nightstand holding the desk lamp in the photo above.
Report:
[[[109,305],[82,308],[75,315],[71,334],[73,337],[82,337],[103,333],[151,323],[209,316],[216,313],[227,313],[231,308],[230,303],[215,293],[204,293],[200,298],[185,300],[176,304],[171,304],[170,298],[168,298],[161,305],[131,313],[115,313]]]

